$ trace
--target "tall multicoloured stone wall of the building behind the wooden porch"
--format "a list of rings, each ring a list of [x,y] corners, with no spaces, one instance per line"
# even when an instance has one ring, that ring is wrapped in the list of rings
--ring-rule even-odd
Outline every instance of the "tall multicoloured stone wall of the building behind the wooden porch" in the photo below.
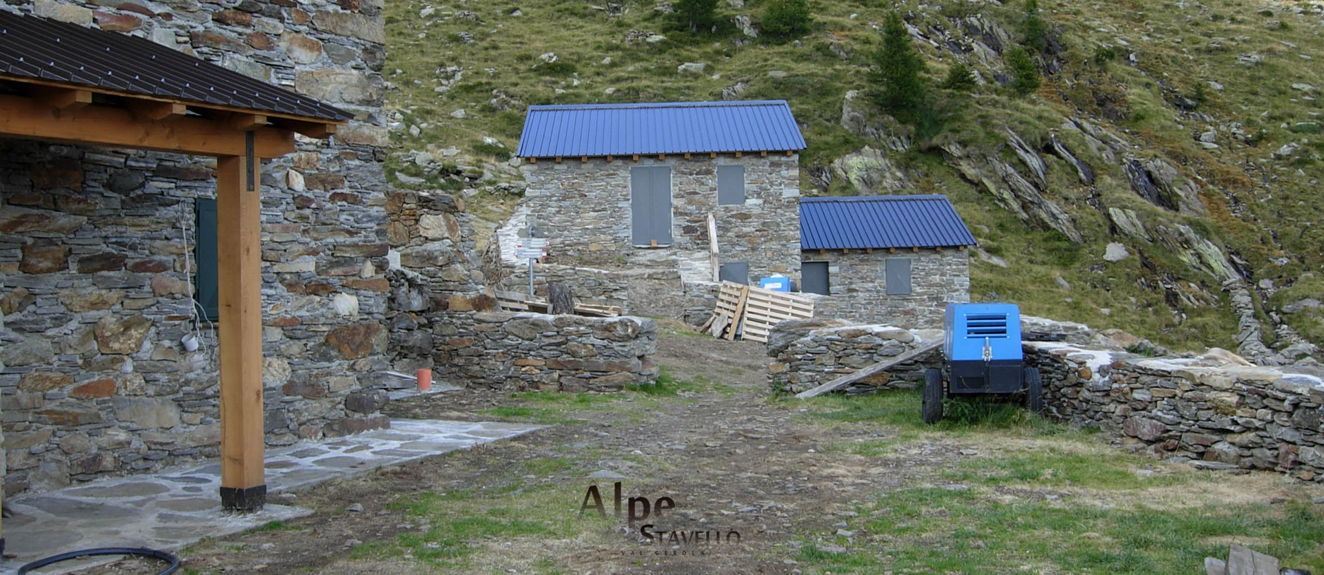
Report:
[[[262,167],[266,441],[383,427],[389,367],[380,3],[37,0],[0,9],[142,36],[356,114]],[[218,451],[214,334],[193,330],[195,201],[214,160],[0,140],[7,493]],[[188,247],[185,247],[188,246]],[[188,258],[188,266],[185,264]]]

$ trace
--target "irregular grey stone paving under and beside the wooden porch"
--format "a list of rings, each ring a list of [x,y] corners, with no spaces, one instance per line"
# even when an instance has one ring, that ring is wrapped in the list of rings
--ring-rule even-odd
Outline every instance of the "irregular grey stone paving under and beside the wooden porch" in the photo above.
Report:
[[[466,449],[543,427],[393,419],[389,430],[267,449],[266,488],[273,494],[306,489],[332,479]],[[79,549],[152,547],[179,551],[204,537],[224,537],[312,513],[287,505],[267,505],[257,513],[226,513],[221,510],[220,486],[221,465],[213,461],[9,498],[5,508],[13,517],[4,519],[5,553],[19,556],[0,563],[0,575],[17,572],[24,563]],[[68,572],[110,560],[114,558],[66,562],[58,567]],[[48,567],[42,572],[57,571]]]

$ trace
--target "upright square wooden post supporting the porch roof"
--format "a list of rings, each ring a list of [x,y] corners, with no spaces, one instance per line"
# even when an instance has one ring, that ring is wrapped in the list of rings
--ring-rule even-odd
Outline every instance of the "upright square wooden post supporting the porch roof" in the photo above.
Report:
[[[266,502],[262,438],[261,160],[216,159],[220,272],[221,506]]]

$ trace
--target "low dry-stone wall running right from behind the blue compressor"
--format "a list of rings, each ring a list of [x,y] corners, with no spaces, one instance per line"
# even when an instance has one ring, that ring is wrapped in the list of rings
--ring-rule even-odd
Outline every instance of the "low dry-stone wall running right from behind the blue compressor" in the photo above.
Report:
[[[1049,412],[1161,456],[1205,467],[1275,469],[1324,481],[1324,381],[1206,358],[1143,358],[1027,342]]]

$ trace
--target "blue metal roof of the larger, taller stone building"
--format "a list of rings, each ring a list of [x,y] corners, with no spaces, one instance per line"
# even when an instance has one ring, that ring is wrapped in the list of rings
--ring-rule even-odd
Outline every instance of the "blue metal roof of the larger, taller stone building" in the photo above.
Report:
[[[805,149],[786,100],[530,106],[520,157]]]

